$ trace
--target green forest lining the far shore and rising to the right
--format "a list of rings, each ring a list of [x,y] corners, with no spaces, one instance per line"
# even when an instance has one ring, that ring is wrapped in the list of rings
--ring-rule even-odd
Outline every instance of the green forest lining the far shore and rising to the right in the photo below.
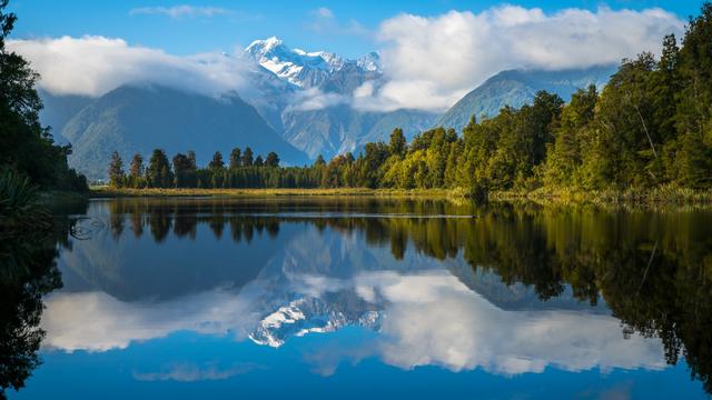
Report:
[[[568,103],[538,92],[532,104],[505,107],[462,134],[436,128],[409,143],[400,129],[389,142],[367,143],[358,158],[279,168],[251,160],[248,149],[207,168],[156,150],[146,171],[140,156],[126,176],[110,166],[111,183],[199,188],[463,188],[469,192],[566,188],[574,190],[712,187],[712,4],[692,18],[681,46],[663,39],[657,59],[624,60],[601,91],[578,90]],[[118,156],[117,156],[118,157]],[[275,156],[276,157],[276,156]]]

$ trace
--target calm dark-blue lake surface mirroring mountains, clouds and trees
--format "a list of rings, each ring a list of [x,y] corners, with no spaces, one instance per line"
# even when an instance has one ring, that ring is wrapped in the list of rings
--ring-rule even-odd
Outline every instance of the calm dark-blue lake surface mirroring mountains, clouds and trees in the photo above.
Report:
[[[26,322],[46,334],[11,399],[712,389],[709,210],[270,198],[67,212],[56,268],[28,253],[47,260],[30,281],[47,290],[12,298],[43,304]]]

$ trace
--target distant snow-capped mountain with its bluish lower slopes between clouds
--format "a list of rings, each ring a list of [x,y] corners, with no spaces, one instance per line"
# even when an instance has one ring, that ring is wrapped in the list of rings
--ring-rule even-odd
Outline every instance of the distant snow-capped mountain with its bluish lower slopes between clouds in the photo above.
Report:
[[[357,152],[368,141],[387,140],[400,127],[411,137],[431,127],[436,114],[418,110],[373,112],[354,109],[349,99],[365,82],[383,83],[380,58],[369,52],[356,60],[328,51],[287,47],[278,38],[255,40],[241,54],[253,63],[250,90],[240,94],[267,123],[312,159]],[[335,101],[303,103],[324,93]]]

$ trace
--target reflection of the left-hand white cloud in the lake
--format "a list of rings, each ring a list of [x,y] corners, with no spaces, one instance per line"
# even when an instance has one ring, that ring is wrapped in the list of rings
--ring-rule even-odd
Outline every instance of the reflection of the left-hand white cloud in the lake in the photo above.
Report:
[[[58,293],[47,299],[43,346],[65,351],[126,349],[131,342],[190,330],[247,338],[259,320],[246,293],[211,290],[160,302],[122,302],[103,292]],[[78,307],[82,312],[76,312]]]

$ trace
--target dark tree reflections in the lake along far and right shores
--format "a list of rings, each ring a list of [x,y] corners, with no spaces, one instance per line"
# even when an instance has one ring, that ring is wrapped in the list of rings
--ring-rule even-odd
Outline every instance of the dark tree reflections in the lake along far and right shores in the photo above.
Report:
[[[709,210],[374,199],[128,200],[110,207],[112,216],[121,216],[113,230],[122,229],[128,216],[131,231],[140,234],[147,216],[157,242],[171,227],[178,237],[195,238],[199,223],[218,239],[228,228],[231,240],[249,242],[264,231],[276,237],[280,222],[301,221],[320,230],[363,232],[368,243],[389,246],[398,260],[408,246],[438,260],[462,252],[473,269],[493,271],[507,284],[531,286],[542,301],[566,286],[578,300],[596,304],[603,299],[624,333],[661,338],[666,361],[684,357],[692,377],[712,391]],[[444,216],[476,218],[438,218]]]

